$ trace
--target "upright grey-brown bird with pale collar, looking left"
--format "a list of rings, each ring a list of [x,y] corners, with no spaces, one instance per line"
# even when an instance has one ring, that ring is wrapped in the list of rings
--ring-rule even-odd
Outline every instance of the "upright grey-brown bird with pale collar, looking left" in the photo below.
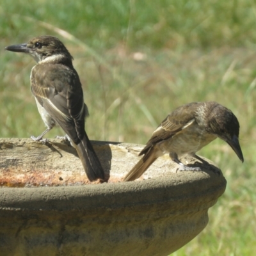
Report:
[[[79,76],[72,65],[73,58],[65,45],[54,36],[38,36],[28,44],[10,45],[5,49],[30,54],[37,63],[31,70],[31,91],[47,129],[31,138],[42,140],[58,123],[76,148],[88,179],[104,180],[102,166],[84,131],[88,108],[84,104]]]

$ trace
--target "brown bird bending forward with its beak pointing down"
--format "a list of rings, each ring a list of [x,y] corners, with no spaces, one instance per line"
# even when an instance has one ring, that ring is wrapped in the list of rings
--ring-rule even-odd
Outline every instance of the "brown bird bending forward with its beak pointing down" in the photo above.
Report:
[[[175,109],[153,132],[139,156],[140,161],[125,176],[124,181],[138,179],[157,157],[168,153],[172,161],[183,170],[196,170],[182,164],[178,156],[196,152],[216,138],[224,140],[243,162],[243,153],[238,141],[239,122],[230,109],[217,102],[192,102]]]

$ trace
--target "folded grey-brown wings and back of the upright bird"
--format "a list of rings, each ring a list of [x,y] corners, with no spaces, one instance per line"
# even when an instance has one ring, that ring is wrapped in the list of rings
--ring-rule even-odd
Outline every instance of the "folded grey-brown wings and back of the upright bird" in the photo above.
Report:
[[[84,117],[88,111],[75,70],[56,64],[36,65],[31,74],[31,90],[68,136],[76,141],[81,133],[83,138]]]

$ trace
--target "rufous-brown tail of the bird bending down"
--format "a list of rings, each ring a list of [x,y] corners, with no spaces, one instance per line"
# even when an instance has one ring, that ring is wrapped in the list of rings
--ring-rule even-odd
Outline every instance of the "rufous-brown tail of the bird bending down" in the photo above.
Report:
[[[132,170],[127,173],[127,175],[124,177],[124,181],[131,181],[131,180],[136,180],[141,175],[147,171],[148,167],[156,161],[157,157],[156,154],[154,154],[154,151],[152,152],[147,152],[138,163],[134,165]]]

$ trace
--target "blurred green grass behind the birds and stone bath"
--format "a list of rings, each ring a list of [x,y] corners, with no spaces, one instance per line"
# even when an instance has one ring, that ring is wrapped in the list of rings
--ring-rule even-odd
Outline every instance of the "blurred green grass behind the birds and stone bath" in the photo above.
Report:
[[[92,140],[145,144],[178,106],[216,100],[241,125],[244,164],[223,141],[199,152],[223,170],[225,194],[182,255],[256,252],[256,5],[253,1],[14,1],[0,6],[1,137],[44,131],[30,92],[32,58],[4,52],[55,35],[74,56]],[[49,132],[52,138],[60,129]]]

